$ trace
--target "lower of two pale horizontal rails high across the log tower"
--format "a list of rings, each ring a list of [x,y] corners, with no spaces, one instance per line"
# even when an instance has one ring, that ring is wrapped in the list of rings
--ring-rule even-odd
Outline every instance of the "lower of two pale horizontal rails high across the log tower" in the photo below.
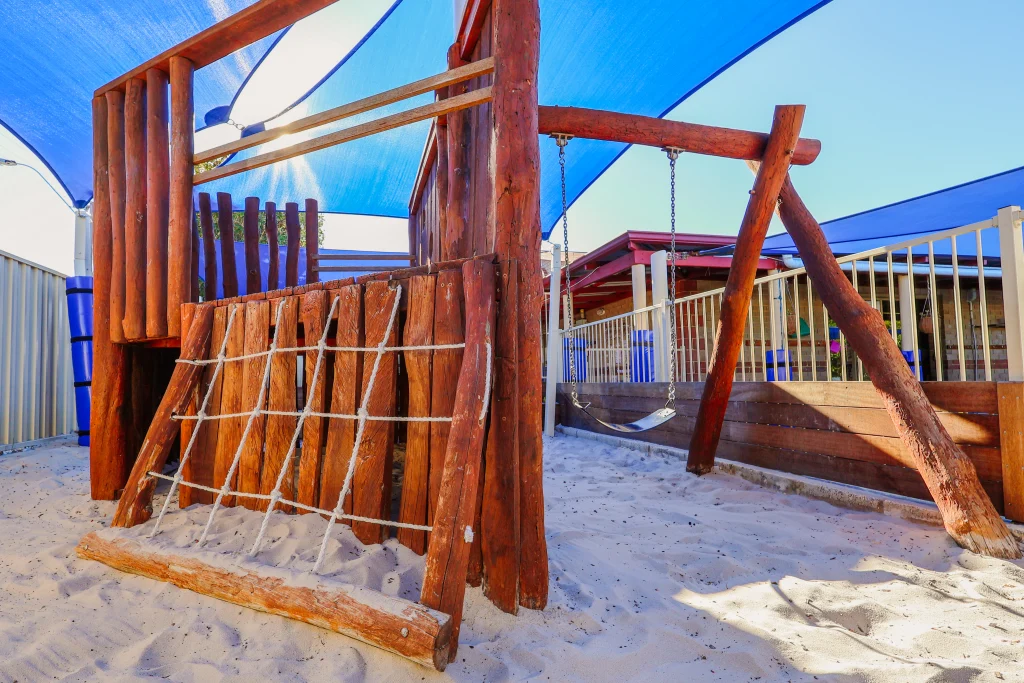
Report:
[[[275,164],[280,161],[292,159],[293,157],[307,155],[311,152],[325,150],[343,142],[351,142],[352,140],[357,140],[361,137],[383,133],[386,130],[408,126],[409,124],[416,123],[418,121],[433,119],[444,114],[458,112],[470,106],[476,106],[477,104],[482,104],[487,101],[490,101],[490,88],[480,88],[479,90],[473,90],[472,92],[467,92],[463,95],[458,95],[449,99],[441,99],[436,102],[431,102],[430,104],[424,104],[423,106],[417,106],[406,112],[392,114],[391,116],[386,116],[381,119],[368,121],[367,123],[352,126],[351,128],[345,128],[344,130],[339,130],[334,133],[321,135],[319,137],[298,142],[297,144],[285,147],[284,150],[276,150],[274,152],[256,155],[255,157],[244,159],[242,161],[234,162],[233,164],[218,166],[217,168],[211,169],[206,173],[200,173],[194,176],[193,184],[199,185],[204,182],[210,182],[211,180],[217,180],[218,178],[226,178],[231,175],[244,173],[245,171],[251,171],[263,166]]]

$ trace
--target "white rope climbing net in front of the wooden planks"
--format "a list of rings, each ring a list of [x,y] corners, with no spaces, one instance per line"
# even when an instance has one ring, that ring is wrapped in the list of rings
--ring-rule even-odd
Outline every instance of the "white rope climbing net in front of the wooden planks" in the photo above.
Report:
[[[328,313],[328,322],[334,317],[335,311],[338,307],[338,302],[341,299],[340,296],[335,296],[331,302],[330,312]],[[148,472],[150,476],[157,477],[159,479],[168,480],[171,482],[170,490],[168,490],[167,497],[164,499],[163,507],[160,510],[160,514],[157,517],[156,523],[154,524],[153,530],[150,532],[150,537],[154,537],[160,530],[160,525],[167,514],[168,508],[170,507],[171,499],[174,497],[175,492],[179,486],[186,486],[190,488],[196,488],[199,490],[205,490],[216,495],[216,500],[210,509],[209,517],[206,521],[206,526],[203,529],[203,533],[199,539],[199,546],[202,547],[210,533],[210,529],[213,526],[214,518],[217,515],[218,510],[222,506],[222,502],[225,497],[232,496],[236,498],[249,498],[256,499],[260,501],[266,501],[268,503],[266,512],[263,514],[263,520],[260,524],[259,532],[256,537],[252,548],[249,550],[249,556],[252,557],[259,552],[260,546],[263,543],[263,538],[266,535],[267,526],[269,525],[270,515],[274,511],[279,504],[286,506],[294,506],[295,508],[306,510],[308,512],[316,512],[328,518],[327,529],[324,532],[323,541],[321,542],[319,553],[316,556],[316,561],[313,564],[312,571],[316,572],[319,570],[324,563],[325,555],[327,554],[328,544],[331,538],[331,531],[334,528],[335,523],[339,519],[348,519],[352,521],[369,522],[373,524],[382,524],[386,526],[395,526],[401,528],[411,528],[422,531],[430,531],[432,526],[424,524],[411,524],[406,522],[393,521],[390,519],[378,519],[373,517],[362,517],[358,515],[352,515],[345,513],[343,510],[345,497],[348,496],[352,484],[352,475],[355,472],[355,463],[359,454],[359,445],[362,441],[364,431],[366,430],[366,425],[370,421],[389,421],[389,422],[452,422],[451,417],[406,417],[406,416],[373,416],[367,411],[367,405],[370,401],[370,397],[374,393],[374,385],[377,381],[378,371],[380,370],[381,358],[384,353],[394,353],[398,351],[427,351],[427,350],[441,350],[441,349],[459,349],[465,348],[466,344],[427,344],[422,346],[387,346],[388,340],[391,338],[391,333],[394,329],[395,321],[398,316],[398,307],[401,300],[401,287],[396,288],[394,304],[391,308],[391,313],[388,318],[387,329],[384,332],[384,336],[381,338],[380,343],[377,346],[362,347],[362,346],[329,346],[327,343],[328,332],[330,330],[330,325],[324,326],[324,331],[319,336],[315,346],[295,346],[295,347],[279,347],[278,338],[281,334],[282,329],[282,311],[284,310],[284,304],[278,306],[278,315],[275,321],[275,330],[273,334],[273,339],[270,342],[270,346],[266,351],[259,351],[256,353],[248,353],[244,355],[226,357],[227,350],[227,340],[230,335],[231,326],[234,324],[234,315],[237,308],[232,307],[227,318],[227,324],[224,332],[224,339],[220,344],[220,348],[217,352],[216,357],[205,359],[205,360],[189,360],[189,359],[179,359],[177,362],[195,365],[195,366],[213,366],[212,379],[206,390],[206,394],[203,396],[203,400],[199,405],[199,410],[196,415],[176,415],[173,419],[179,421],[191,420],[196,422],[196,426],[191,431],[191,435],[188,439],[183,453],[181,454],[181,459],[178,464],[177,471],[172,475],[163,474],[161,472]],[[310,381],[309,390],[307,392],[306,403],[301,411],[271,411],[263,408],[264,401],[266,399],[267,386],[270,381],[270,359],[275,353],[298,353],[303,351],[315,351],[316,361],[313,369],[312,380]],[[316,386],[321,379],[321,369],[324,364],[325,353],[328,351],[353,351],[353,352],[366,352],[374,353],[374,364],[373,369],[370,373],[370,378],[367,381],[366,389],[362,392],[362,399],[360,401],[359,408],[354,415],[339,414],[339,413],[319,413],[311,410],[311,397],[316,394]],[[487,383],[489,386],[490,380],[490,348],[489,344],[486,348],[487,354]],[[208,415],[207,408],[210,402],[210,396],[213,393],[214,385],[216,384],[217,377],[220,375],[221,370],[225,362],[242,361],[250,358],[266,357],[267,362],[263,370],[263,377],[259,387],[259,394],[256,399],[255,407],[252,411],[245,413],[231,413],[225,415]],[[489,392],[487,392],[489,394]],[[484,396],[484,412],[486,411],[486,403],[488,401],[488,396]],[[238,470],[239,462],[242,458],[242,453],[245,447],[246,441],[252,431],[253,424],[261,415],[278,415],[278,416],[288,416],[298,418],[295,426],[295,431],[292,433],[292,439],[288,446],[288,451],[285,458],[281,464],[281,468],[278,471],[278,477],[274,483],[273,490],[269,494],[254,494],[245,493],[240,490],[233,490],[231,487],[231,481],[234,478],[234,473]],[[317,508],[311,505],[305,505],[298,501],[288,500],[282,495],[282,486],[285,482],[288,472],[292,469],[292,459],[295,456],[296,445],[299,441],[299,435],[302,432],[302,425],[305,420],[309,417],[316,418],[332,418],[341,420],[355,420],[355,437],[352,443],[352,453],[348,459],[348,467],[345,472],[344,483],[342,484],[341,493],[338,496],[338,502],[333,510],[326,510],[323,508]],[[197,437],[200,433],[200,426],[211,420],[226,420],[230,418],[248,418],[245,426],[245,430],[242,433],[242,438],[239,441],[239,445],[234,451],[234,456],[231,460],[230,467],[228,468],[227,474],[224,477],[224,482],[219,488],[213,486],[207,486],[200,483],[195,483],[186,481],[182,478],[182,471],[185,464],[188,462],[189,457],[196,445]],[[387,476],[387,475],[385,475]]]

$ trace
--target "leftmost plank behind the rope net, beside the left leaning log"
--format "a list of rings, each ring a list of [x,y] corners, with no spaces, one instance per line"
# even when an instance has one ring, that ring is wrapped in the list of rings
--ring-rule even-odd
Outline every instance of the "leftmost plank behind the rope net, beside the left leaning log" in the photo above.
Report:
[[[215,358],[220,353],[226,329],[227,308],[215,308],[213,333],[210,338],[211,358]],[[223,387],[223,368],[218,373],[216,372],[215,364],[204,366],[196,400],[199,402],[199,405],[202,405],[205,396],[209,392],[210,398],[206,403],[207,415],[221,414],[220,399]],[[214,481],[214,466],[217,453],[217,434],[220,431],[221,422],[221,420],[204,420],[199,425],[199,436],[196,437],[196,443],[193,445],[188,460],[181,467],[181,478],[185,481],[203,484],[204,486],[216,485]],[[189,486],[178,488],[178,506],[181,508],[187,508],[196,503],[213,503],[215,499],[216,496],[207,490],[200,490]]]

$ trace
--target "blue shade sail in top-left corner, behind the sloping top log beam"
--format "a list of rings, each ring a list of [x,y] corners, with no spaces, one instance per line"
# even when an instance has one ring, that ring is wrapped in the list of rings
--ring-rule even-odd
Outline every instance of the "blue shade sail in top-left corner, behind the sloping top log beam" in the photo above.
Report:
[[[254,0],[3,0],[0,124],[43,160],[72,200],[92,199],[92,93]],[[196,113],[227,104],[273,43],[196,73]]]

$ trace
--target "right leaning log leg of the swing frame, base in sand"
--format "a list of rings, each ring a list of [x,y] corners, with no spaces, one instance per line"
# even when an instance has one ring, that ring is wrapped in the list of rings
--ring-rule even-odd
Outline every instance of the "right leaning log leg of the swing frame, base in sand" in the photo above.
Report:
[[[779,213],[815,293],[864,364],[900,439],[939,507],[949,536],[976,553],[1016,559],[1020,547],[985,494],[974,464],[939,421],[882,315],[840,269],[821,226],[786,177]]]

